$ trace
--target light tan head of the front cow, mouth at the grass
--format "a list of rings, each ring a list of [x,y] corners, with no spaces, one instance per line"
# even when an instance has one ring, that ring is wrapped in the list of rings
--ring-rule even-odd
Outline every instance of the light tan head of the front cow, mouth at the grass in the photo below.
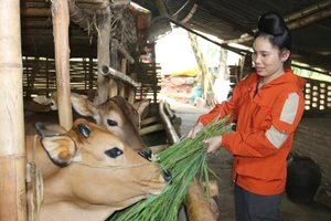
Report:
[[[66,134],[43,137],[41,143],[52,161],[62,167],[52,179],[60,179],[58,187],[67,188],[67,194],[78,201],[118,210],[166,187],[163,172],[154,162],[86,119],[77,119]]]

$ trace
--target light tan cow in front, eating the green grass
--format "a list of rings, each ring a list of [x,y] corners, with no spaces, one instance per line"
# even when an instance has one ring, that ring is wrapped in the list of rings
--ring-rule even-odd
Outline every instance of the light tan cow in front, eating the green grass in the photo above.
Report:
[[[86,119],[75,120],[70,131],[61,126],[55,131],[49,131],[53,126],[38,127],[43,137],[26,136],[25,144],[28,161],[43,175],[39,220],[105,220],[117,210],[160,193],[171,179],[156,162]],[[30,193],[28,186],[28,198]]]

